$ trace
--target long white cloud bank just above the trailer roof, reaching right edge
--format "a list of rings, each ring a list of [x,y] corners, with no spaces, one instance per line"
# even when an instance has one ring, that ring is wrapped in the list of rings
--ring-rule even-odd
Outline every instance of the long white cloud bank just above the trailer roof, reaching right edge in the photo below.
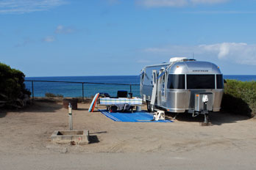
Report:
[[[256,45],[240,42],[222,42],[212,45],[182,46],[171,45],[165,48],[146,48],[146,53],[168,56],[187,56],[192,53],[196,56],[214,57],[220,61],[235,62],[238,64],[256,65]]]

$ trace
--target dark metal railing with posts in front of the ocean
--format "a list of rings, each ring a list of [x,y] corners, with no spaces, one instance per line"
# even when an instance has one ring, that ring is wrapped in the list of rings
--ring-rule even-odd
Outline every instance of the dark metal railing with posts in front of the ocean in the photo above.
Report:
[[[129,91],[132,92],[132,86],[139,86],[140,84],[109,84],[109,83],[93,83],[93,82],[78,82],[78,81],[37,81],[37,80],[25,80],[31,82],[32,85],[32,100],[34,100],[34,82],[48,82],[48,83],[68,83],[68,84],[82,84],[82,101],[85,99],[85,84],[103,84],[103,85],[124,85],[129,86]]]

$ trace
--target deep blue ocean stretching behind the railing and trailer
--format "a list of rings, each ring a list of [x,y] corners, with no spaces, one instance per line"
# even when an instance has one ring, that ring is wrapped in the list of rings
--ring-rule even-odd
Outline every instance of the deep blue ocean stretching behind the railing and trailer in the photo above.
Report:
[[[256,75],[224,75],[225,79],[235,79],[239,81],[256,81]],[[32,80],[34,86],[34,96],[44,97],[46,93],[63,95],[64,97],[82,97],[82,84],[52,83],[35,81],[72,81],[90,82],[104,84],[84,84],[84,96],[91,97],[98,92],[108,93],[116,96],[118,90],[130,91],[132,84],[132,95],[140,97],[140,76],[139,75],[112,75],[112,76],[65,76],[65,77],[26,77],[25,80]],[[25,81],[26,89],[32,92],[32,82]]]

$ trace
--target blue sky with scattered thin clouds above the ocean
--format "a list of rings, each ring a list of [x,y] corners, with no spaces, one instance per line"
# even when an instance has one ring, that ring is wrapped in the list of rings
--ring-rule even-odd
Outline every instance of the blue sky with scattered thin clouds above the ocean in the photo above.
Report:
[[[138,75],[185,56],[256,75],[255,0],[0,0],[0,62],[26,76]]]

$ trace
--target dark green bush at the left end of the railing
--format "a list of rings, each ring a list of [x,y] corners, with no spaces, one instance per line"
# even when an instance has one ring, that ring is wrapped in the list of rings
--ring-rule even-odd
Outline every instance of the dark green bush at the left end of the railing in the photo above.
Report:
[[[22,100],[31,95],[25,88],[25,75],[20,70],[12,69],[7,64],[0,62],[0,101],[4,106],[23,106]]]

